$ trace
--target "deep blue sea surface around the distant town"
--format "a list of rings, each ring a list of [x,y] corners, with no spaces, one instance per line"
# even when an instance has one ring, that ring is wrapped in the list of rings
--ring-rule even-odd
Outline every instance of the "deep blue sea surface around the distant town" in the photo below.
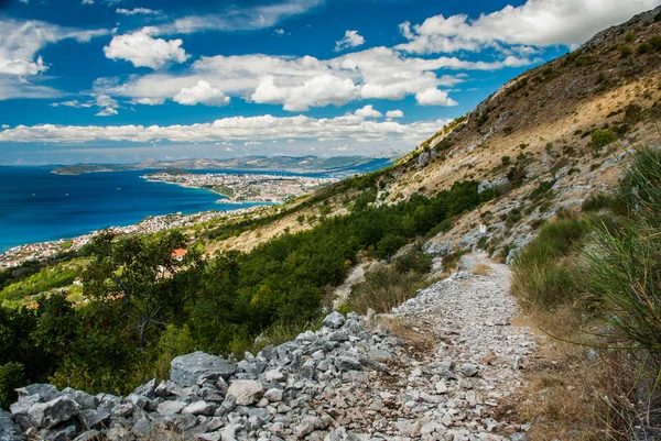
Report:
[[[369,168],[355,172],[380,167],[370,164]],[[218,203],[223,197],[209,190],[141,178],[150,170],[55,175],[52,169],[0,166],[0,252],[26,243],[75,238],[106,227],[130,225],[148,216],[227,211],[257,205]],[[294,175],[228,169],[192,172]]]

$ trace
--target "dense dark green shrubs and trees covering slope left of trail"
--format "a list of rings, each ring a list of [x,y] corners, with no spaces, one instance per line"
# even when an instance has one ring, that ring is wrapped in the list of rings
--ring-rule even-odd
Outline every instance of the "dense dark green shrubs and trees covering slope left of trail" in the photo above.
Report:
[[[402,245],[445,228],[492,195],[478,195],[477,183],[465,181],[432,198],[415,196],[375,208],[373,188],[382,176],[353,178],[324,190],[323,199],[311,198],[323,202],[340,189],[353,189],[358,197],[350,214],[323,219],[311,230],[285,233],[246,254],[202,258],[201,250],[176,231],[101,234],[90,245],[77,294],[85,301],[78,307],[64,293],[52,293],[39,297],[33,309],[0,309],[0,366],[25,382],[126,393],[164,375],[170,360],[182,352],[242,354],[264,342],[256,342],[260,334],[277,341],[315,322],[324,294],[342,284],[359,253],[391,258]],[[239,225],[234,228],[254,228],[248,221]],[[178,249],[187,251],[184,257],[173,255]],[[392,265],[398,280],[388,280],[398,287],[397,298],[404,298],[422,286],[421,274],[431,263],[414,247]],[[71,284],[78,273],[67,268],[42,269],[21,280],[21,290],[14,284],[6,289],[24,296]],[[15,384],[0,382],[0,390]]]

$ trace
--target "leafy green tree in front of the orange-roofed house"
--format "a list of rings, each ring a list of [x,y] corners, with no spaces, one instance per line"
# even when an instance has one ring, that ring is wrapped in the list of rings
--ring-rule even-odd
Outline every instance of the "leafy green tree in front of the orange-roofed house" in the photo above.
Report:
[[[180,232],[116,240],[105,232],[93,244],[94,260],[84,273],[84,295],[115,300],[129,329],[145,350],[152,331],[165,328],[198,295],[202,253],[187,250]]]

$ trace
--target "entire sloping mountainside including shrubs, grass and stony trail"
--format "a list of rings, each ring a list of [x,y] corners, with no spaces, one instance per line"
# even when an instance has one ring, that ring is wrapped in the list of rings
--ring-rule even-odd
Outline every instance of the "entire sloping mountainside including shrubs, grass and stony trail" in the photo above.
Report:
[[[661,7],[383,169],[97,236],[73,290],[53,267],[2,274],[17,297],[63,289],[0,309],[0,422],[57,441],[658,439],[660,68]],[[29,382],[63,390],[14,403]]]

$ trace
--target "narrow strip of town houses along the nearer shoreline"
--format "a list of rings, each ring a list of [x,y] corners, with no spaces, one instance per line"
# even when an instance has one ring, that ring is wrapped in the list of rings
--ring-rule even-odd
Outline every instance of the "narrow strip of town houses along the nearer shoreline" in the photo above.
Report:
[[[228,211],[204,211],[194,214],[164,214],[150,216],[142,221],[127,227],[110,227],[104,231],[110,231],[116,234],[150,234],[159,231],[172,230],[175,228],[188,228],[201,222],[207,222],[219,218],[229,218],[253,211],[262,210],[266,206],[250,206]],[[0,253],[0,271],[14,268],[30,261],[43,261],[56,257],[57,255],[79,250],[89,243],[95,235],[100,234],[101,230],[93,231],[72,239],[59,239],[51,242],[40,242],[14,246]]]

